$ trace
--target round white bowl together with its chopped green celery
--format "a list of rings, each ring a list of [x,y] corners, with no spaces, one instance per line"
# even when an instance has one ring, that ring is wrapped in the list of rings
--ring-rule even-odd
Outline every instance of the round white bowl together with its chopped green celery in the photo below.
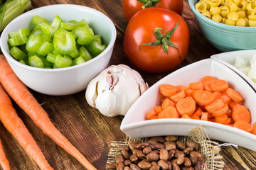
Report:
[[[26,86],[63,96],[86,89],[107,67],[116,36],[114,23],[100,11],[60,4],[15,18],[2,32],[0,46]]]

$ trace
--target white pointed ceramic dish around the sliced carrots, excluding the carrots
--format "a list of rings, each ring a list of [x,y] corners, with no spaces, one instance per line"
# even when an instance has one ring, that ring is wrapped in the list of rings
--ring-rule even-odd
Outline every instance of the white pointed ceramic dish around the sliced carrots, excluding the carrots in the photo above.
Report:
[[[124,116],[120,127],[121,130],[134,138],[164,135],[189,136],[189,131],[199,125],[203,125],[210,139],[230,142],[256,151],[256,135],[228,125],[181,118],[145,120],[146,111],[151,110],[154,106],[160,106],[159,86],[161,84],[188,86],[189,83],[199,81],[206,75],[225,79],[231,87],[239,91],[242,97],[245,98],[245,102],[242,104],[252,114],[252,123],[256,121],[255,91],[238,74],[224,64],[213,59],[206,59],[176,70],[176,72],[164,77],[145,91]]]

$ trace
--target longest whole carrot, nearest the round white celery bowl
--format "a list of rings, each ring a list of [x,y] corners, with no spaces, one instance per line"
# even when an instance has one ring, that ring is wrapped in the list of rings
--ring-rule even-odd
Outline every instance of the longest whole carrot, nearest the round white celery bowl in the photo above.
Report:
[[[50,121],[48,114],[42,106],[36,101],[28,88],[16,77],[9,63],[3,55],[0,55],[0,82],[6,92],[13,100],[25,111],[33,122],[41,128],[44,134],[48,135],[66,152],[85,166],[86,169],[95,169],[90,162],[76,149],[60,131],[55,128]]]

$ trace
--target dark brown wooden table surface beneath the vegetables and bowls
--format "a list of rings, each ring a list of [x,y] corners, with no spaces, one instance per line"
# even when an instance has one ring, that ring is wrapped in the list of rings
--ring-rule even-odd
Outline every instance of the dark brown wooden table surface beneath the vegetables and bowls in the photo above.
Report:
[[[122,49],[124,31],[127,27],[127,21],[122,12],[122,0],[32,0],[33,8],[50,4],[80,4],[95,8],[109,16],[117,28],[117,40],[114,45],[114,51],[109,65],[127,64],[129,67],[136,69],[129,63]],[[197,62],[198,60],[203,60],[210,57],[210,55],[220,52],[210,45],[206,38],[203,37],[201,30],[196,24],[191,8],[188,6],[187,0],[184,1],[183,18],[185,18],[188,23],[190,30],[190,49],[186,60],[184,60],[176,69]],[[174,72],[174,70],[171,70],[171,72]],[[148,74],[139,71],[149,86],[171,72]],[[123,117],[116,116],[114,118],[109,118],[102,115],[95,108],[91,108],[85,100],[85,91],[69,96],[48,96],[39,94],[35,91],[31,92],[38,102],[42,103],[42,106],[48,112],[50,119],[55,126],[61,130],[63,135],[65,135],[65,137],[67,137],[68,140],[70,140],[70,142],[73,143],[73,145],[75,145],[75,147],[77,147],[97,169],[105,169],[111,142],[113,140],[125,140],[126,135],[120,130],[120,124]],[[76,159],[58,147],[53,140],[50,140],[46,135],[43,135],[43,132],[34,125],[28,115],[21,111],[15,103],[14,107],[35,138],[38,146],[42,149],[49,164],[54,169],[85,169]],[[1,123],[0,135],[6,151],[6,157],[11,164],[11,169],[39,169]],[[252,152],[242,147],[238,147],[238,149],[235,147],[223,147],[221,154],[225,160],[224,169],[256,169],[256,152]]]

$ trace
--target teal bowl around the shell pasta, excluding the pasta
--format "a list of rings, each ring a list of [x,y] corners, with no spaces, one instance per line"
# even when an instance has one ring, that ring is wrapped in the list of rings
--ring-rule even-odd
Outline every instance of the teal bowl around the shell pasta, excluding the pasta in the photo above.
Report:
[[[198,26],[214,47],[223,52],[256,49],[256,27],[229,26],[213,21],[196,10],[197,2],[188,0]]]

